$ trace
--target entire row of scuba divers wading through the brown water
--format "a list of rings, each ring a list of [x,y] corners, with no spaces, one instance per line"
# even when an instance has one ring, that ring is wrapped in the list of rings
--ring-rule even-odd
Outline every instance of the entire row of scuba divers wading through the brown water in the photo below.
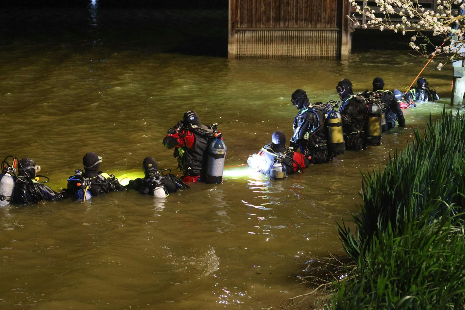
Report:
[[[384,90],[384,81],[380,77],[376,77],[372,84],[373,91],[353,94],[351,81],[339,81],[336,90],[340,106],[339,101],[311,103],[306,92],[297,89],[291,101],[299,113],[294,117],[290,147],[286,147],[285,134],[275,131],[272,142],[251,155],[248,165],[256,172],[269,175],[272,180],[284,179],[310,164],[330,162],[332,157],[344,154],[345,150],[359,151],[367,145],[379,145],[381,133],[393,128],[395,121],[399,127],[405,127],[403,108],[416,107],[414,101],[439,99],[423,77],[417,81],[417,87],[405,94],[398,89],[393,92]],[[335,110],[338,107],[339,111]],[[168,130],[163,145],[174,148],[173,156],[177,157],[178,167],[184,174],[181,178],[171,174],[169,169],[159,171],[155,160],[146,157],[142,163],[145,176],[123,186],[114,175],[100,171],[102,158],[89,152],[82,159],[84,170],[76,170],[68,179],[66,189],[58,193],[44,184],[49,179],[37,174],[40,166],[32,159],[18,161],[16,157],[7,156],[1,163],[0,206],[10,202],[37,204],[67,197],[86,201],[92,196],[126,189],[164,198],[177,189],[188,188],[186,183],[221,183],[226,145],[217,125],[202,125],[199,116],[188,111],[183,120]]]

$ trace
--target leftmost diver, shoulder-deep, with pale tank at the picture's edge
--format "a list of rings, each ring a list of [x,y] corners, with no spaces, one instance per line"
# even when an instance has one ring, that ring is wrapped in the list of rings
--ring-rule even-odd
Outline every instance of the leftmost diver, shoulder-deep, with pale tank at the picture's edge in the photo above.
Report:
[[[13,159],[10,165],[8,158]],[[18,168],[18,175],[15,174]],[[30,158],[23,158],[20,161],[16,157],[7,156],[1,164],[2,174],[0,175],[0,206],[5,206],[10,202],[13,204],[38,204],[41,201],[61,200],[65,193],[57,193],[50,187],[44,185],[49,178],[38,175],[40,166]],[[40,181],[45,178],[46,181]]]

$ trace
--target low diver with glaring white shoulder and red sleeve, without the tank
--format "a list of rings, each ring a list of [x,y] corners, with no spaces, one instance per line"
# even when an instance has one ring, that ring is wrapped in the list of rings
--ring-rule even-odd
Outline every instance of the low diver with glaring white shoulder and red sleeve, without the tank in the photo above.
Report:
[[[286,148],[286,135],[277,130],[273,132],[271,142],[266,144],[258,154],[253,154],[247,159],[247,164],[255,172],[268,175],[275,162],[282,162],[286,166],[286,174],[303,170],[310,165],[310,161],[304,155]]]

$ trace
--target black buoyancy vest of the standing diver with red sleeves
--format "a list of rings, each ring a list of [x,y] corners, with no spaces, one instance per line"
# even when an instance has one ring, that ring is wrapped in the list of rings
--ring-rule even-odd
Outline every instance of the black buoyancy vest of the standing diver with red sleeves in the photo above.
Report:
[[[193,148],[179,147],[175,149],[175,154],[179,155],[178,166],[184,175],[197,176],[202,179],[206,175],[208,146],[219,133],[217,123],[201,128],[196,125],[189,125],[188,130],[195,137]]]

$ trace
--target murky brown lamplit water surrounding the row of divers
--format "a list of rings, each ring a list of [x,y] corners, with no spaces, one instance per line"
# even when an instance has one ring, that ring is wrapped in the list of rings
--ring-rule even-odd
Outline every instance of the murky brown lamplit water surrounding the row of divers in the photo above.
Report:
[[[226,165],[244,164],[274,130],[290,138],[296,88],[315,101],[336,100],[344,77],[358,90],[377,75],[386,88],[403,88],[423,63],[392,51],[349,61],[228,61],[60,38],[0,49],[0,157],[32,157],[55,189],[87,151],[102,155],[101,168],[115,175],[139,171],[145,156],[176,167],[161,141],[190,109],[204,123],[220,123]],[[346,152],[285,181],[237,167],[226,169],[223,184],[195,184],[166,201],[127,191],[0,209],[0,307],[279,306],[304,290],[297,276],[306,260],[344,253],[335,221],[357,210],[359,170],[383,164],[412,139],[413,127],[424,127],[429,111],[436,117],[448,104],[451,70],[425,76],[441,104],[406,110],[407,128],[384,135],[380,147]]]

